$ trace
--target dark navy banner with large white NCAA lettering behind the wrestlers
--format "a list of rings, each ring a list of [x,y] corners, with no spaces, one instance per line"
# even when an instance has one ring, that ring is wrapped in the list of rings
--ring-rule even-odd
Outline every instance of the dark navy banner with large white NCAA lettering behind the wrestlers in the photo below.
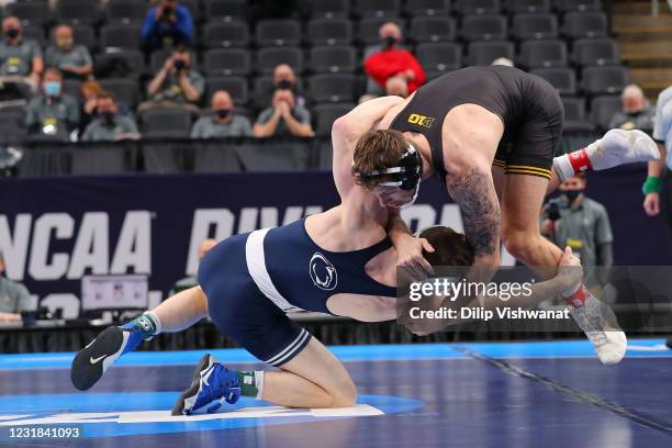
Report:
[[[641,209],[641,167],[612,172],[591,176],[587,195],[611,213],[616,264],[670,265],[663,217]],[[0,179],[0,253],[8,278],[76,317],[82,276],[148,275],[160,300],[197,272],[203,239],[288,224],[338,202],[323,171]],[[462,232],[459,208],[435,179],[403,216],[414,232],[435,224]],[[504,254],[503,262],[514,260]]]

